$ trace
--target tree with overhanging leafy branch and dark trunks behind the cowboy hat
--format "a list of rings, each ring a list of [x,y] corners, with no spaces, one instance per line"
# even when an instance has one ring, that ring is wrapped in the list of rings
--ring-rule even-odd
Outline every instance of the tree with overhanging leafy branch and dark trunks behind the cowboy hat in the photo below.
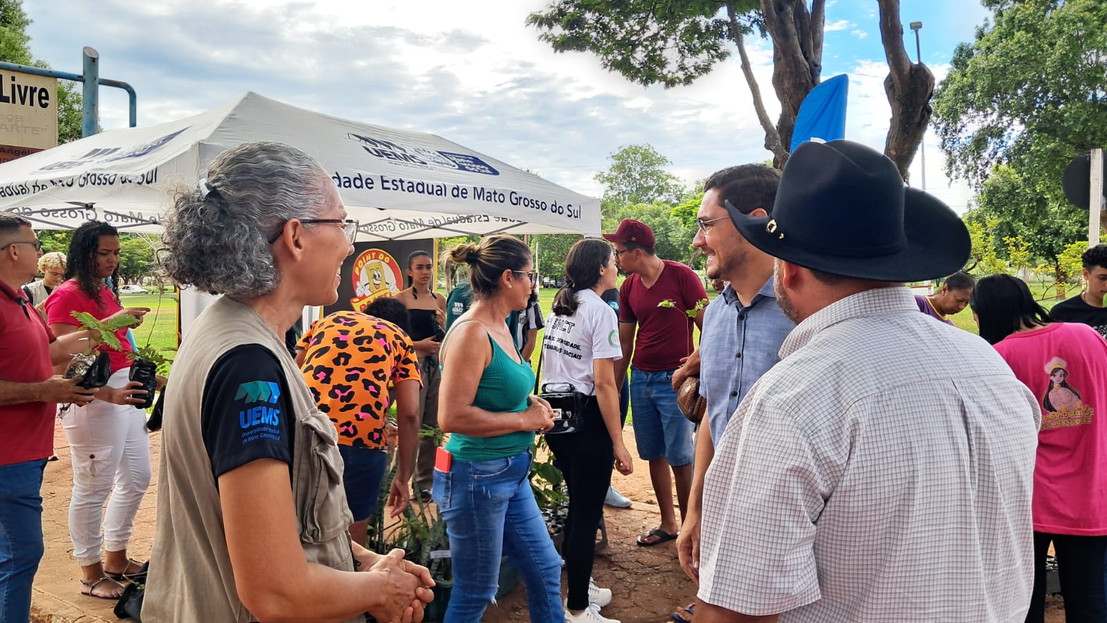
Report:
[[[821,80],[826,0],[551,0],[527,23],[557,52],[590,52],[600,64],[642,85],[690,84],[730,58],[733,44],[753,96],[765,149],[784,166],[799,105]],[[884,83],[892,109],[884,153],[907,168],[930,119],[934,79],[911,63],[903,47],[899,0],[877,0],[888,59]],[[762,101],[745,38],[773,42],[773,89],[780,102],[774,123]]]

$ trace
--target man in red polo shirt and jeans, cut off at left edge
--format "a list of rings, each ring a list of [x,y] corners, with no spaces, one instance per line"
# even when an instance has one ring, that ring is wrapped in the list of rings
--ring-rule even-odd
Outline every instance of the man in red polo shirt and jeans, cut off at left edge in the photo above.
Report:
[[[27,621],[42,558],[42,472],[53,452],[58,402],[92,391],[52,376],[53,364],[87,344],[87,331],[54,337],[20,289],[38,274],[42,247],[30,221],[0,214],[0,620]]]

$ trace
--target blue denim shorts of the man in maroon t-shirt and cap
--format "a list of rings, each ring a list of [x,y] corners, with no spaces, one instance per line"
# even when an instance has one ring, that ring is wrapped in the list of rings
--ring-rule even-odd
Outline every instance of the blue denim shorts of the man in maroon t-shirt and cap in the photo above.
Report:
[[[648,372],[631,367],[630,404],[634,409],[631,425],[638,456],[643,461],[665,459],[672,467],[692,462],[694,425],[681,413],[673,390],[673,372]]]

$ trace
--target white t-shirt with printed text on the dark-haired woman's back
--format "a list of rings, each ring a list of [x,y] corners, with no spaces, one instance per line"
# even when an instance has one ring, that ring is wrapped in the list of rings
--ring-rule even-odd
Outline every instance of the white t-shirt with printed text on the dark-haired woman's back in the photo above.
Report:
[[[576,391],[596,394],[592,362],[619,359],[619,316],[591,289],[573,293],[580,305],[572,316],[551,315],[542,339],[542,378],[550,390],[571,384]]]

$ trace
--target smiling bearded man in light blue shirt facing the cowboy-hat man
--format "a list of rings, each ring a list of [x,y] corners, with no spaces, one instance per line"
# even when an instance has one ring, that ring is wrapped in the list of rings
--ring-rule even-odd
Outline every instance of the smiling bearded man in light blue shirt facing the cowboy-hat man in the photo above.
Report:
[[[773,210],[779,178],[779,171],[761,164],[718,171],[704,182],[696,214],[700,231],[692,245],[707,257],[707,278],[722,278],[730,285],[704,313],[700,349],[673,375],[673,386],[680,387],[699,374],[700,395],[707,401],[708,433],[701,429],[696,436],[689,513],[676,541],[681,565],[694,581],[699,578],[703,480],[715,445],[742,398],[779,360],[780,344],[795,326],[776,304],[773,257],[742,237],[724,202],[743,214],[765,216]],[[691,614],[689,610],[676,614],[683,619]]]

